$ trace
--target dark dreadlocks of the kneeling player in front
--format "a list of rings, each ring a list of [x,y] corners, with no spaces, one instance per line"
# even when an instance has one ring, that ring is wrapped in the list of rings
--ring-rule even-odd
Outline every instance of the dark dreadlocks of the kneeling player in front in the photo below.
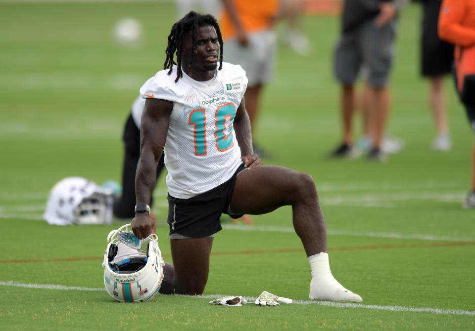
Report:
[[[190,11],[186,14],[181,20],[173,24],[170,35],[168,35],[168,45],[165,53],[167,57],[165,63],[163,64],[163,69],[170,69],[168,75],[172,73],[173,65],[177,65],[177,79],[175,83],[178,82],[180,78],[183,77],[182,72],[182,52],[183,52],[183,39],[191,32],[191,41],[192,49],[189,58],[189,63],[193,60],[194,51],[196,50],[196,39],[198,34],[198,29],[204,26],[212,26],[216,30],[218,35],[218,41],[220,45],[219,51],[219,68],[218,70],[223,69],[223,38],[221,37],[221,31],[219,30],[218,22],[216,19],[209,14],[203,15],[194,11]],[[174,55],[177,55],[177,63],[174,61]]]

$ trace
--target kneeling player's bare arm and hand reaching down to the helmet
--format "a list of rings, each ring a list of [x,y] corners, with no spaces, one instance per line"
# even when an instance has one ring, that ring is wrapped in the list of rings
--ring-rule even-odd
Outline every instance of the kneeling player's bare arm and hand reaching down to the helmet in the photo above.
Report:
[[[147,99],[142,114],[140,132],[140,159],[135,174],[135,196],[138,204],[150,204],[157,181],[157,165],[165,147],[173,102]],[[155,223],[146,212],[136,213],[132,230],[139,238],[155,232]]]

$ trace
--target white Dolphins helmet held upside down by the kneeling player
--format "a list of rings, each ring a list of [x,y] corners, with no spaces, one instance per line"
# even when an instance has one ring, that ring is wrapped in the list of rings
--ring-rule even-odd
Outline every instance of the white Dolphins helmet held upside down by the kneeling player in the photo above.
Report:
[[[163,281],[165,262],[158,248],[156,234],[139,240],[126,224],[107,236],[104,253],[104,285],[107,293],[117,301],[151,301]],[[147,244],[145,250],[141,250]]]

